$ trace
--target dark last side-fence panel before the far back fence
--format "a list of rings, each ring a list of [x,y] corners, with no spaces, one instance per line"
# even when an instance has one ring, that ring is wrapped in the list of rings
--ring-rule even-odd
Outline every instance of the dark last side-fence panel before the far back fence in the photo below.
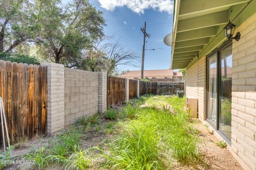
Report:
[[[140,81],[140,96],[146,94],[157,94],[157,82]]]

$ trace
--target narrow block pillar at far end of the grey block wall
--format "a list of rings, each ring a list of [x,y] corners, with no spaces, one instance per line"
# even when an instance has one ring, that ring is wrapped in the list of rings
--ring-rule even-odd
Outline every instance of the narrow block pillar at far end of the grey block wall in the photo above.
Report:
[[[107,73],[99,73],[99,113],[107,111]]]

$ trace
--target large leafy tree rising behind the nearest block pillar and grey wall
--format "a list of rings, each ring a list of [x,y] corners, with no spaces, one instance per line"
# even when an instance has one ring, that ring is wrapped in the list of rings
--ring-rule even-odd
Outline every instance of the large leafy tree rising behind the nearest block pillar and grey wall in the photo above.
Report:
[[[38,0],[36,10],[42,23],[41,50],[55,63],[81,57],[83,50],[103,36],[102,12],[87,0],[74,0],[65,6],[58,0]]]

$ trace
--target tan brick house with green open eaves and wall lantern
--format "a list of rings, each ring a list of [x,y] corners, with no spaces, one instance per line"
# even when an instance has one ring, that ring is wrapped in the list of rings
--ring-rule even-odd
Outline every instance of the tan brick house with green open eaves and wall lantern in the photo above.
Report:
[[[240,39],[228,41],[229,31]],[[175,0],[172,32],[164,40],[171,69],[187,69],[186,95],[198,99],[199,120],[255,170],[256,0]]]

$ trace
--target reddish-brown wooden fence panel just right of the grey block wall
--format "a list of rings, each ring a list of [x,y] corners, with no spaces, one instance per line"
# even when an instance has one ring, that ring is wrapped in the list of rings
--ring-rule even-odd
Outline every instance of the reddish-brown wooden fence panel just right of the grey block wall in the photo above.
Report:
[[[125,79],[107,78],[107,106],[120,105],[125,102]]]

